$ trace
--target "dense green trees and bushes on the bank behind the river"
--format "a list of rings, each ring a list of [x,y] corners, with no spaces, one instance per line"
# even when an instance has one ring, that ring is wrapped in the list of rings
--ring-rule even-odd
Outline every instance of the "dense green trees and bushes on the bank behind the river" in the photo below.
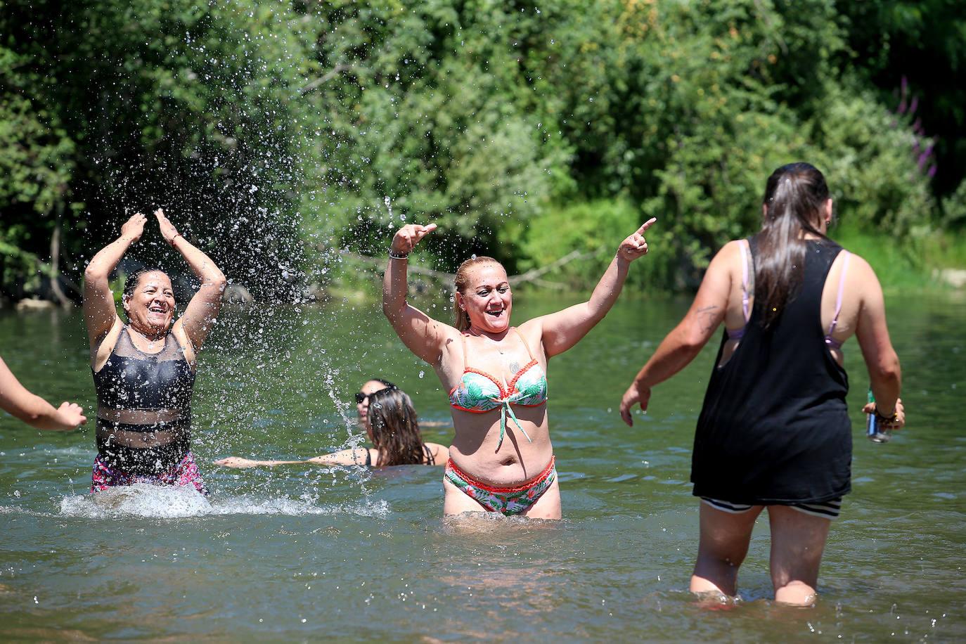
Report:
[[[952,4],[0,1],[0,291],[157,206],[265,297],[429,220],[525,269],[657,216],[635,279],[682,288],[800,159],[859,230],[961,232],[962,90],[904,67],[959,69]]]

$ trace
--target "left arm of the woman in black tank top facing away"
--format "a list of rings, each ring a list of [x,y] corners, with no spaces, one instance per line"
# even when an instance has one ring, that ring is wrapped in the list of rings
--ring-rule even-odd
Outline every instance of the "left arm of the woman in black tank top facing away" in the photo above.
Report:
[[[629,426],[634,425],[631,409],[635,405],[646,409],[651,387],[687,367],[725,320],[728,294],[731,292],[731,272],[728,267],[730,251],[727,247],[723,248],[711,261],[684,320],[661,341],[654,355],[624,393],[620,416]]]

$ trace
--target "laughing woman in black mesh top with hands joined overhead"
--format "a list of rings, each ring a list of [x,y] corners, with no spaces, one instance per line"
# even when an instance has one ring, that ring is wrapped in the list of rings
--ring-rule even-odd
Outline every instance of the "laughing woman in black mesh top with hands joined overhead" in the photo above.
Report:
[[[91,491],[132,483],[193,485],[207,492],[191,457],[191,392],[196,352],[218,314],[225,276],[182,237],[163,211],[161,236],[176,248],[201,288],[174,322],[171,280],[160,270],[128,276],[123,295],[128,323],[114,307],[108,277],[147,221],[141,213],[121,227],[84,273],[84,316],[98,392],[98,458]]]

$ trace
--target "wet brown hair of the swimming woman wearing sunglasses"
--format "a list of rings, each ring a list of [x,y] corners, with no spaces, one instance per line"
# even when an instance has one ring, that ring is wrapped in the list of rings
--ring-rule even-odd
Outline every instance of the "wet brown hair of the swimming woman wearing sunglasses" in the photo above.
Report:
[[[402,389],[380,389],[369,396],[369,425],[379,451],[377,467],[425,461],[416,410]]]

